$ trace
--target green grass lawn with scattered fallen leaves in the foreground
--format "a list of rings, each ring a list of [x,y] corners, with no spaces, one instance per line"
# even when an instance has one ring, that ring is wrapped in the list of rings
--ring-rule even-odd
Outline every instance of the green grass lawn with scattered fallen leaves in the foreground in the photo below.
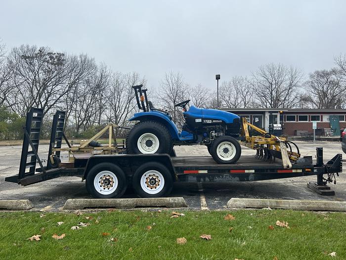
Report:
[[[346,259],[345,213],[184,210],[179,212],[185,216],[171,218],[171,212],[51,212],[40,217],[41,212],[2,211],[0,259]],[[235,219],[224,220],[228,213]],[[290,228],[275,225],[277,220]],[[59,221],[64,223],[57,225]],[[89,225],[71,230],[79,222]],[[55,240],[54,233],[66,236]],[[40,241],[26,240],[37,234]],[[212,240],[200,238],[202,234]],[[176,243],[181,237],[185,244]],[[332,252],[336,257],[328,255]]]

